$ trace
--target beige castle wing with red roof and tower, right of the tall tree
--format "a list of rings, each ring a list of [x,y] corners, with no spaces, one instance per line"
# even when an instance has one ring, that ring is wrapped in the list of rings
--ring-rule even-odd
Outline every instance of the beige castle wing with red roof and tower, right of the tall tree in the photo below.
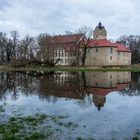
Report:
[[[131,50],[124,45],[107,40],[107,31],[99,23],[93,31],[93,39],[88,43],[85,65],[131,65]]]

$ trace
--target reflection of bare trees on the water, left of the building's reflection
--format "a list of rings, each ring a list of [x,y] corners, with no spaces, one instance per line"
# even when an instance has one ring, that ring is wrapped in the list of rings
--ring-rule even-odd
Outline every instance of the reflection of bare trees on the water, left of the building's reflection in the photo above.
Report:
[[[1,72],[0,73],[0,99],[6,99],[8,95],[16,100],[19,92],[24,95],[34,94],[37,90],[36,78],[22,73]]]

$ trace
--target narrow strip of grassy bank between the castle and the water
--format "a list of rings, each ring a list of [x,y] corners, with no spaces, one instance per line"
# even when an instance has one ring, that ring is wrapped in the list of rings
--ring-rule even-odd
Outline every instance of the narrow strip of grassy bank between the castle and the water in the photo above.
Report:
[[[1,65],[1,71],[34,71],[34,72],[50,72],[50,71],[131,71],[140,72],[140,65],[132,65],[126,67],[66,67],[66,66],[55,66],[55,67],[20,67],[14,68],[8,65]]]

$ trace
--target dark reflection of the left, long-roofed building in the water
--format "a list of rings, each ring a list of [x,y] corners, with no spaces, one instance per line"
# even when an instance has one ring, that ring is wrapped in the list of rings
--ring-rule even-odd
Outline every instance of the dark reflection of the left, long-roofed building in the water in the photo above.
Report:
[[[56,98],[83,99],[79,94],[77,73],[57,72],[54,75],[40,78],[41,95]]]

